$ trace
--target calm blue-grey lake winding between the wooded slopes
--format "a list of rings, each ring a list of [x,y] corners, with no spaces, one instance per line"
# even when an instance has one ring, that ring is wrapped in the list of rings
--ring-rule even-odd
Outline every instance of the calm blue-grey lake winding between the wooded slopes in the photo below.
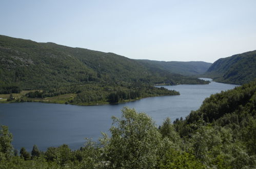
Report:
[[[163,86],[179,91],[181,95],[149,97],[112,105],[2,103],[0,124],[9,127],[13,134],[12,144],[17,150],[25,147],[31,151],[33,144],[36,144],[40,150],[46,151],[47,147],[64,143],[75,150],[83,146],[85,137],[96,141],[101,132],[108,132],[112,124],[111,116],[121,117],[123,107],[147,113],[159,126],[166,117],[172,121],[184,118],[191,110],[199,109],[206,97],[236,86],[214,81],[209,85]]]

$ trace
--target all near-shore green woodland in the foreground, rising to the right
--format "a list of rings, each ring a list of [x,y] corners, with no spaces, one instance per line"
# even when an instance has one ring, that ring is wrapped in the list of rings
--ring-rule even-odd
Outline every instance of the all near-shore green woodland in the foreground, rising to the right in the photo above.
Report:
[[[256,81],[206,98],[186,119],[166,118],[157,128],[145,113],[124,108],[112,117],[110,136],[41,152],[14,150],[0,131],[0,168],[255,168]],[[18,154],[19,152],[19,154]]]

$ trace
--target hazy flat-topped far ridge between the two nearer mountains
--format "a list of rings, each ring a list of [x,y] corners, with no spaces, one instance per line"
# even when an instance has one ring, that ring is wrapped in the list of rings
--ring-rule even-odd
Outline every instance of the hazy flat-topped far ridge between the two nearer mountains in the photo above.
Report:
[[[204,74],[211,66],[211,63],[204,61],[155,61],[140,59],[137,61],[147,67],[153,67],[186,76]]]

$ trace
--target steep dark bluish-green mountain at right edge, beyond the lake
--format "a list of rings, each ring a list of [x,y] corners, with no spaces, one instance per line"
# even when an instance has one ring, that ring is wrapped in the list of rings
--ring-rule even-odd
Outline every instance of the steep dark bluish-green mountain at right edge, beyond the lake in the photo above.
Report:
[[[256,50],[215,61],[206,77],[214,81],[242,85],[256,78]]]

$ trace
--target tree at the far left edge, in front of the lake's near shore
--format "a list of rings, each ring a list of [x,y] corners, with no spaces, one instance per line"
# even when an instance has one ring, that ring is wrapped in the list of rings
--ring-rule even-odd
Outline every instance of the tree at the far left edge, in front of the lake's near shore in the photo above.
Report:
[[[2,125],[0,130],[0,152],[9,159],[13,155],[12,134],[8,131],[8,126]]]

